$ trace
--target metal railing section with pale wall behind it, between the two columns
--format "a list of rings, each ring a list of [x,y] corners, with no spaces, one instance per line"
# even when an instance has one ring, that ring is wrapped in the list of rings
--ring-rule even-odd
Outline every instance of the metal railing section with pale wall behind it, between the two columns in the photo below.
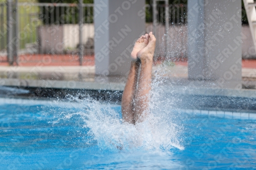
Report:
[[[187,5],[155,4],[153,31],[157,38],[156,58],[187,57]],[[155,16],[155,17],[154,17]]]

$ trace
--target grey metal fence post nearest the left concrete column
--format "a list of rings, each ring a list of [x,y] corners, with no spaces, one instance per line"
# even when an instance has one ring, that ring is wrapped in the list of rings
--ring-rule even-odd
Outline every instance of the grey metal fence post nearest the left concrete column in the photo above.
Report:
[[[83,27],[83,1],[79,0],[79,64],[82,65],[83,57],[83,42],[82,42],[82,27]]]

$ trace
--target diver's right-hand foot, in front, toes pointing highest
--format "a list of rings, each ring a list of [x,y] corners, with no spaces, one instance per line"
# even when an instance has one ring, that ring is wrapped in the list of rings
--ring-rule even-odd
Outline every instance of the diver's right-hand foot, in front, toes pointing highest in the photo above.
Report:
[[[142,50],[140,50],[137,53],[137,57],[141,60],[141,62],[146,62],[146,61],[153,62],[153,56],[154,56],[155,47],[156,47],[156,38],[152,34],[152,32],[148,34],[148,37],[149,37],[148,44],[146,45],[146,47],[144,47]]]

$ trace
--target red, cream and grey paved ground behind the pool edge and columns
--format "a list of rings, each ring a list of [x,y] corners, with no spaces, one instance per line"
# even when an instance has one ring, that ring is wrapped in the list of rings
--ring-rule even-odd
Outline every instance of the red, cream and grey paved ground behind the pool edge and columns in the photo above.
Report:
[[[85,56],[82,66],[79,66],[79,58],[77,55],[20,56],[19,66],[8,66],[7,62],[0,62],[0,78],[2,80],[125,82],[123,78],[95,77],[94,65],[94,56]],[[156,61],[153,67],[153,74],[171,78],[171,80],[187,80],[187,61],[168,62],[167,64],[163,64],[163,61]],[[242,77],[244,88],[256,88],[256,60],[242,61]]]

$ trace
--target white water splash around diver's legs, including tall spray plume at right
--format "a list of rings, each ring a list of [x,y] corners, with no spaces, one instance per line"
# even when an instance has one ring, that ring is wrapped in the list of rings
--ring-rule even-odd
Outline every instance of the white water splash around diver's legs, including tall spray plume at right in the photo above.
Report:
[[[60,119],[71,119],[80,116],[84,128],[89,128],[87,134],[96,140],[101,149],[123,151],[142,149],[151,151],[168,151],[172,148],[183,150],[180,144],[181,126],[176,125],[172,118],[172,101],[165,98],[161,88],[162,78],[155,75],[150,102],[150,114],[144,122],[132,125],[122,122],[120,106],[102,104],[90,97],[79,99],[69,96],[70,101],[76,101],[76,107],[82,107],[75,113],[59,116]]]

